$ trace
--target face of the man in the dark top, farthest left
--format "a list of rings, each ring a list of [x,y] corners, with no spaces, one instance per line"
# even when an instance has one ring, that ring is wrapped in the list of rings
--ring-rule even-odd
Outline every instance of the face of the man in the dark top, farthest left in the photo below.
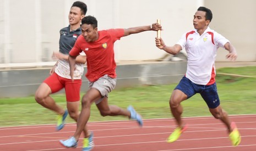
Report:
[[[81,9],[79,7],[70,8],[68,21],[70,25],[80,24],[81,19],[83,19],[84,15],[81,14]]]

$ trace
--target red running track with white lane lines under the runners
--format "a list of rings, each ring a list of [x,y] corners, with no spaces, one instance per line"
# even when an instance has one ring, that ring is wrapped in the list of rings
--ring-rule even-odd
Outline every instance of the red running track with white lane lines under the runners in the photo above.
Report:
[[[184,118],[188,129],[173,143],[166,142],[176,127],[172,118],[146,119],[142,128],[129,120],[93,122],[88,126],[94,132],[94,151],[256,150],[256,114],[231,115],[230,118],[242,135],[238,147],[231,146],[225,125],[213,117]],[[76,149],[63,148],[58,142],[72,136],[75,127],[67,124],[59,132],[55,131],[55,125],[0,127],[0,150],[81,150],[81,140]]]

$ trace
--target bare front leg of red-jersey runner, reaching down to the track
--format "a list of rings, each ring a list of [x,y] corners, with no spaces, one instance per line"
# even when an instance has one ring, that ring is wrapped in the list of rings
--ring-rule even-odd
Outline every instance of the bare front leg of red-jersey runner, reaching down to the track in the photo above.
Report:
[[[86,94],[82,98],[82,107],[81,113],[79,115],[77,130],[75,130],[74,137],[76,140],[79,140],[81,132],[84,130],[85,125],[87,124],[90,112],[91,112],[91,104],[101,98],[101,94],[98,90],[91,88],[86,92]]]

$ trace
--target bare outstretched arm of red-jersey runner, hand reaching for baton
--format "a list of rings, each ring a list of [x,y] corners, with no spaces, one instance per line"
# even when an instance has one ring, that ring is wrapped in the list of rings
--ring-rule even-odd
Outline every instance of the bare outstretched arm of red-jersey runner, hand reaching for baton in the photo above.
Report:
[[[151,28],[151,26],[152,26],[152,28]],[[144,31],[158,31],[158,30],[162,29],[162,26],[158,23],[154,23],[151,26],[148,25],[148,26],[139,26],[139,27],[132,27],[132,28],[124,29],[124,36],[128,36],[128,35],[134,34],[134,33],[144,32]]]

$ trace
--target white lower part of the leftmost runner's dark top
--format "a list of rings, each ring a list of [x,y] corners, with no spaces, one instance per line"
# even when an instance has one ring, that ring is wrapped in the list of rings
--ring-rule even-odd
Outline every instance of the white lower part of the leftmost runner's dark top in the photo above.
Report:
[[[80,55],[85,56],[84,51],[80,53]],[[69,69],[69,62],[66,60],[59,60],[58,65],[55,68],[55,73],[58,74],[60,77],[71,79],[70,77],[70,69]],[[74,79],[81,79],[81,76],[84,73],[84,66],[81,63],[75,64],[74,70]]]

